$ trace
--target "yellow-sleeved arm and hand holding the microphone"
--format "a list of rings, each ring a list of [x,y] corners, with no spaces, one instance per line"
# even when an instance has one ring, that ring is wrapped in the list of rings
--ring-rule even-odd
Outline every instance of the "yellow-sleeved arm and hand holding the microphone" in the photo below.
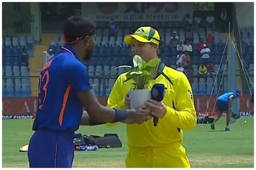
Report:
[[[196,128],[197,115],[191,86],[185,74],[180,76],[176,86],[177,97],[173,101],[173,108],[164,105],[163,102],[153,100],[149,100],[146,104],[151,107],[154,116],[160,119],[164,118],[169,122],[167,124],[172,124],[180,129],[192,130]]]

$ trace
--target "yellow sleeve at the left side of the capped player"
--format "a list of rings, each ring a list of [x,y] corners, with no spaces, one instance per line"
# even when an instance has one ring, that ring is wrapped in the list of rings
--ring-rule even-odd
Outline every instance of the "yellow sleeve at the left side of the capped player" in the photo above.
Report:
[[[109,98],[107,98],[107,107],[125,109],[125,96],[123,96],[122,84],[123,81],[121,75],[117,78],[116,82],[114,82]]]

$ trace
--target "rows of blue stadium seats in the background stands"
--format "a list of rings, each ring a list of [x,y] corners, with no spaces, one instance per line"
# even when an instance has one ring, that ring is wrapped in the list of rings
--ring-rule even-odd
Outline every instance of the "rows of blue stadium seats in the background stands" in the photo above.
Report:
[[[109,93],[112,88],[113,82],[116,77],[127,70],[125,68],[116,69],[120,65],[132,65],[131,58],[131,47],[127,46],[123,39],[126,34],[129,34],[137,29],[137,27],[142,25],[154,25],[156,29],[159,30],[161,40],[164,41],[164,46],[160,48],[159,57],[166,63],[167,66],[171,66],[174,69],[176,68],[176,56],[177,51],[174,48],[170,48],[169,42],[172,36],[173,31],[177,31],[179,40],[185,41],[185,30],[180,22],[118,22],[119,29],[114,37],[109,36],[109,29],[107,27],[107,22],[98,22],[96,29],[96,47],[92,52],[92,59],[85,63],[91,84],[93,89],[97,94],[102,93],[103,83],[102,79],[96,77],[101,77],[102,74],[106,76],[106,93]],[[217,86],[213,87],[214,79],[207,78],[207,81],[203,79],[198,79],[198,67],[200,64],[200,54],[198,53],[196,46],[200,38],[206,37],[207,31],[204,27],[200,27],[198,32],[192,32],[193,42],[191,53],[191,64],[194,69],[193,76],[194,82],[192,83],[192,88],[195,94],[210,94],[217,93]],[[248,63],[248,70],[251,77],[253,77],[253,38],[254,32],[253,27],[241,27],[241,40],[242,40],[242,54],[245,58],[245,63]],[[12,79],[13,86],[9,86],[7,83],[3,86],[3,93],[6,96],[19,96],[30,94],[30,81],[29,70],[28,68],[19,61],[18,56],[21,54],[22,49],[25,48],[28,53],[33,53],[32,46],[35,44],[35,40],[32,36],[20,36],[20,37],[3,37],[3,80],[5,83],[9,79]],[[211,49],[211,61],[214,63],[215,73],[218,72],[221,56],[225,48],[226,39],[221,37],[220,32],[214,31],[214,43],[210,45]],[[53,52],[57,54],[62,47],[63,42],[59,38],[53,39],[49,45],[49,49],[52,48]],[[224,54],[223,63],[226,61],[226,53]],[[220,68],[223,71],[223,66]],[[222,72],[219,72],[221,74]],[[225,78],[227,76],[227,66],[224,70]],[[21,86],[16,86],[20,79]],[[28,79],[26,83],[25,79]],[[196,81],[197,80],[197,81]],[[21,87],[21,88],[19,88]],[[227,84],[224,82],[224,91],[227,90]],[[99,91],[100,89],[100,91]]]

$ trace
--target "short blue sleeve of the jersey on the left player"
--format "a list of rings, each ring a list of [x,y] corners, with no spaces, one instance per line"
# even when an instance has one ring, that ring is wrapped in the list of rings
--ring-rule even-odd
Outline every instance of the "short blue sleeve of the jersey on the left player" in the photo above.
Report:
[[[91,89],[86,67],[82,63],[74,63],[66,69],[67,81],[76,92],[88,91]]]

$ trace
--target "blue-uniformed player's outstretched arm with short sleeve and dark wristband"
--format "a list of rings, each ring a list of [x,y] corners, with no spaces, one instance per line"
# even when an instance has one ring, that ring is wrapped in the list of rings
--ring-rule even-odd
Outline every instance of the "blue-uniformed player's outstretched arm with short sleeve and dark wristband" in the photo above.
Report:
[[[101,105],[89,83],[87,70],[82,63],[73,63],[65,67],[66,81],[76,91],[77,96],[90,116],[90,124],[104,124],[107,122],[143,123],[147,114],[142,108],[138,110],[109,109]]]

